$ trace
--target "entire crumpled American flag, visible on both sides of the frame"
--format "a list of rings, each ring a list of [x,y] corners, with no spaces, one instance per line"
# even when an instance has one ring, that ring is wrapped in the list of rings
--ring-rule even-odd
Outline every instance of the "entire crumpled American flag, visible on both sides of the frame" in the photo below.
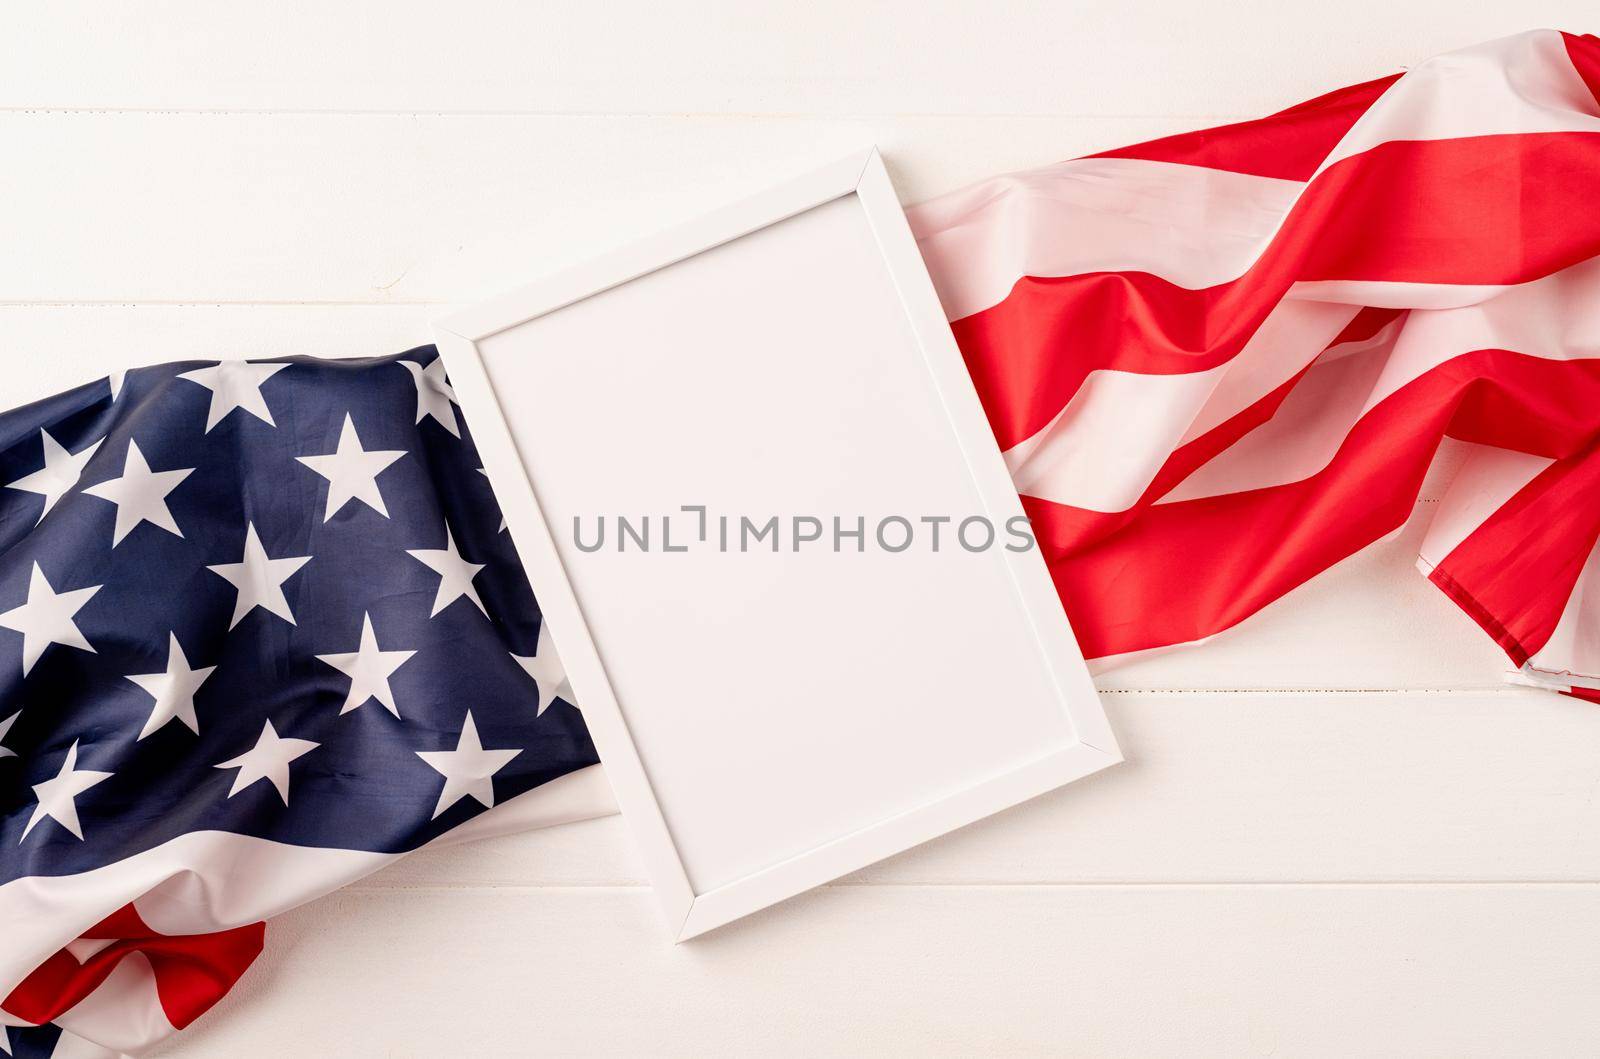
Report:
[[[1088,656],[1270,608],[1454,438],[1422,571],[1600,701],[1597,94],[1523,34],[910,211]],[[0,416],[0,483],[16,1054],[142,1049],[275,912],[597,776],[430,350],[131,373]]]

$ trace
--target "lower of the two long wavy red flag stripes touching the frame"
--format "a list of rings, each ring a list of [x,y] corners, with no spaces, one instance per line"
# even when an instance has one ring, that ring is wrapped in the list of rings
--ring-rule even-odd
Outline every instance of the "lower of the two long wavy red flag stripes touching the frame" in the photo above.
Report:
[[[1522,424],[1581,451],[1600,360],[1456,357],[1397,390],[1322,472],[1291,485],[1101,515],[1024,498],[1088,657],[1202,640],[1398,528],[1446,434],[1517,448]],[[1563,454],[1563,453],[1546,453]]]

